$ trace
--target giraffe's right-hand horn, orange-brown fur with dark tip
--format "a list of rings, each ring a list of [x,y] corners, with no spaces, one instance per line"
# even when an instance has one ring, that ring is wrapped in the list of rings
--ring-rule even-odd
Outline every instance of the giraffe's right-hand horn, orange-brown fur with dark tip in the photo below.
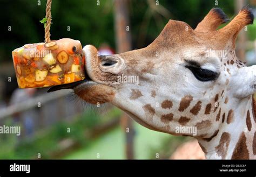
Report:
[[[232,21],[216,33],[221,42],[232,40],[233,47],[235,47],[235,39],[239,31],[246,25],[253,23],[253,13],[247,6],[242,8],[238,15]]]

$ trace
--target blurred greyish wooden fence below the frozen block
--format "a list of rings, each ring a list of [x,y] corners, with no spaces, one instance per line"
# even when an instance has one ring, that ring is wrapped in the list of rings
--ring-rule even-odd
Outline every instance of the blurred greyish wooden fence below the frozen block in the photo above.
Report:
[[[83,109],[82,101],[72,100],[69,90],[60,90],[0,109],[0,126],[11,122],[11,126],[21,125],[22,132],[31,129],[33,135],[59,121],[71,121],[82,115]],[[22,138],[27,135],[22,134]]]

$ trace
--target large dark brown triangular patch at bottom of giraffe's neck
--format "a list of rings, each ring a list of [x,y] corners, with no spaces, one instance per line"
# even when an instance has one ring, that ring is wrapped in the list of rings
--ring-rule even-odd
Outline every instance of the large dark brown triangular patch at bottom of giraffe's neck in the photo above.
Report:
[[[238,143],[235,145],[231,159],[249,159],[245,132],[241,133]]]

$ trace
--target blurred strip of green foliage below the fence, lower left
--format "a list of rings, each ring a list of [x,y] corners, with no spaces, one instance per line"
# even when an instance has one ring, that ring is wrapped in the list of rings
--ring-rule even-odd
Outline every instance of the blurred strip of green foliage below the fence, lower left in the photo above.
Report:
[[[49,159],[53,152],[60,150],[59,141],[67,138],[80,146],[85,146],[91,142],[86,132],[120,115],[122,111],[117,108],[111,109],[103,116],[92,109],[87,109],[83,116],[76,117],[73,122],[58,122],[38,132],[33,138],[18,140],[17,136],[8,134],[8,137],[0,138],[0,159],[36,159],[37,153],[41,153],[42,159]],[[6,122],[5,125],[14,126],[10,122]]]

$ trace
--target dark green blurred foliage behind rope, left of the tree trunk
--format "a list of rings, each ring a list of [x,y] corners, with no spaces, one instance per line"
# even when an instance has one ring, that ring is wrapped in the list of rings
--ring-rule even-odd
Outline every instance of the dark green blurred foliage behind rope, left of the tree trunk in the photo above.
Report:
[[[83,45],[98,47],[106,41],[114,47],[114,29],[111,1],[53,0],[51,39],[73,38]],[[11,51],[24,44],[44,41],[44,25],[39,22],[45,17],[46,0],[15,2],[1,0],[0,61],[11,61]],[[107,32],[106,32],[107,30]]]

